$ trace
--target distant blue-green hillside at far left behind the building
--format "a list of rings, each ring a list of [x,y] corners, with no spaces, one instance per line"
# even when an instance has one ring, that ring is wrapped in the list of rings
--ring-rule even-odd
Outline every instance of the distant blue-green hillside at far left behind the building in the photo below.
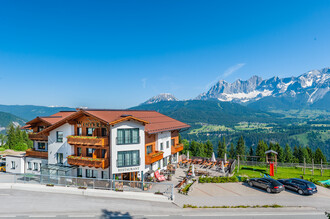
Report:
[[[27,121],[37,116],[49,116],[58,111],[73,110],[69,107],[47,107],[34,105],[0,105],[0,112],[11,113]]]

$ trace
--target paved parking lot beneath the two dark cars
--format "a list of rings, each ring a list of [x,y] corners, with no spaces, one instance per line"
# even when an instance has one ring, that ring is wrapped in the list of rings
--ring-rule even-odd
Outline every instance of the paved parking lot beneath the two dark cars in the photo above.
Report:
[[[312,196],[299,195],[292,191],[269,194],[245,183],[197,183],[189,195],[176,194],[175,203],[179,206],[237,206],[237,205],[272,205],[290,207],[312,207],[330,210],[330,189],[318,186],[318,193]]]

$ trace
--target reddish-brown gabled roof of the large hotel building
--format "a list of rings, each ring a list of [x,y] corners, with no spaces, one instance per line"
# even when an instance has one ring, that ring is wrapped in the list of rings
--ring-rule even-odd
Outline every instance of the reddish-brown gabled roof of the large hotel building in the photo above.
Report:
[[[175,120],[171,117],[165,116],[156,111],[145,110],[96,110],[96,109],[80,109],[79,111],[65,117],[64,119],[54,123],[52,126],[44,129],[42,132],[47,133],[69,120],[78,118],[82,115],[92,116],[99,119],[101,122],[108,125],[115,125],[117,123],[135,120],[145,125],[145,131],[149,134],[154,134],[163,131],[172,131],[178,129],[189,128],[190,126]]]

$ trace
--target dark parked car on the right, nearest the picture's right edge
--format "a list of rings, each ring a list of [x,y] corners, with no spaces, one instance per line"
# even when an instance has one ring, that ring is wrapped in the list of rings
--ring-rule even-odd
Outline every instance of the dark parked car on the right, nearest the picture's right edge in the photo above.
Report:
[[[317,193],[317,187],[314,183],[303,179],[280,179],[279,182],[283,183],[286,189],[298,192],[299,195],[313,195]]]

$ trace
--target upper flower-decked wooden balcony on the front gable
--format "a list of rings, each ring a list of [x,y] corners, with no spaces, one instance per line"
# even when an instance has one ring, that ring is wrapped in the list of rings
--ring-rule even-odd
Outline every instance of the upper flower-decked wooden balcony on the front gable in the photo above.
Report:
[[[109,145],[108,137],[92,137],[92,136],[68,136],[68,143],[71,145],[99,146]]]

